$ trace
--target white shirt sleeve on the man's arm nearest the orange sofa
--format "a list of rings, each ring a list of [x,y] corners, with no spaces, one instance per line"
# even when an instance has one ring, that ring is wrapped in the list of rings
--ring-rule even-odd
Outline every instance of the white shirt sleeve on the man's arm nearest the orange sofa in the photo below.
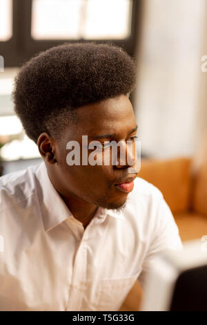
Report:
[[[170,207],[168,207],[164,197],[161,197],[157,216],[155,218],[155,229],[152,233],[152,240],[148,248],[148,252],[142,264],[142,270],[139,275],[139,283],[144,288],[146,279],[150,270],[155,265],[155,257],[166,249],[182,250],[183,244],[179,236],[179,229],[172,216]]]

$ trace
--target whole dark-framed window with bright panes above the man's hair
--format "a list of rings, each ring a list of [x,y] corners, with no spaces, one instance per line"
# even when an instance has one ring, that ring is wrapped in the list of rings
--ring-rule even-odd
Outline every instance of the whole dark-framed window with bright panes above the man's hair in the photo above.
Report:
[[[141,9],[138,0],[0,0],[0,57],[21,66],[66,41],[112,41],[134,56]]]

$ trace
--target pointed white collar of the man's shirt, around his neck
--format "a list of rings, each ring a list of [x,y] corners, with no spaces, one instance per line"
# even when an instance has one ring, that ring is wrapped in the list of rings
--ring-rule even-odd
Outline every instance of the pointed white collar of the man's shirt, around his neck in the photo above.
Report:
[[[52,185],[44,161],[37,168],[36,175],[40,184],[38,195],[41,202],[41,210],[43,212],[43,225],[47,232],[72,216],[72,213]],[[121,220],[124,219],[123,212],[116,212],[115,210],[103,207],[99,207],[94,218],[101,223],[106,219],[106,216],[112,216],[113,218]]]

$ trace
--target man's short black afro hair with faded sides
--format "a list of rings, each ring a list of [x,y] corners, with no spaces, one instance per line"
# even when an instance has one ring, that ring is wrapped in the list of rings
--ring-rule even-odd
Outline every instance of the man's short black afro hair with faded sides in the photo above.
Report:
[[[48,132],[58,139],[86,104],[128,95],[135,88],[135,62],[113,44],[62,44],[23,64],[14,82],[14,111],[37,143]]]

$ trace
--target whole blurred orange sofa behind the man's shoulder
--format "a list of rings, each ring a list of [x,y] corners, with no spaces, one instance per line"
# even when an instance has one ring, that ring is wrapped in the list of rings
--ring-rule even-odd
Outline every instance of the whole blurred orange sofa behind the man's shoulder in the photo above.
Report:
[[[195,169],[190,158],[142,160],[138,176],[164,194],[182,241],[207,234],[207,163]]]

